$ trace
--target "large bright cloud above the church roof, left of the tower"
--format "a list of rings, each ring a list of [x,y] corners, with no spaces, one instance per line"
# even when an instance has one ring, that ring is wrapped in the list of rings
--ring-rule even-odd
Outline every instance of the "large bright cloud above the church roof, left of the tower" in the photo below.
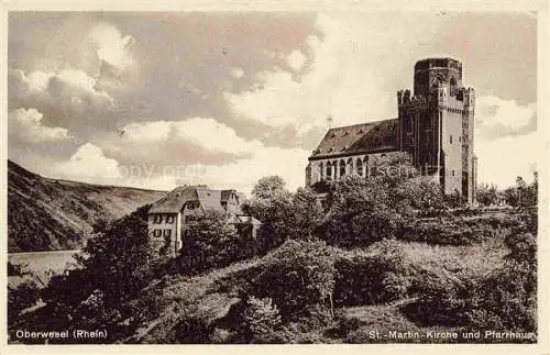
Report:
[[[405,74],[413,76],[414,64],[396,53],[419,52],[442,20],[411,15],[388,27],[392,19],[395,14],[319,13],[319,34],[290,52],[287,68],[266,69],[249,90],[226,98],[243,119],[271,127],[293,124],[298,132],[326,127],[328,115],[334,125],[395,118],[395,91]]]

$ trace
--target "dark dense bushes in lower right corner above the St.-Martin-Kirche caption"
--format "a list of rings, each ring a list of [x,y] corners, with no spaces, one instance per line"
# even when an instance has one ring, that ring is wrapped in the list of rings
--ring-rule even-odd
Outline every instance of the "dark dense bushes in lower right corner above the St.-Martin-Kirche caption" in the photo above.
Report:
[[[530,233],[510,234],[507,243],[504,266],[487,276],[432,274],[420,279],[415,286],[420,297],[407,313],[426,325],[536,332],[536,240]]]

